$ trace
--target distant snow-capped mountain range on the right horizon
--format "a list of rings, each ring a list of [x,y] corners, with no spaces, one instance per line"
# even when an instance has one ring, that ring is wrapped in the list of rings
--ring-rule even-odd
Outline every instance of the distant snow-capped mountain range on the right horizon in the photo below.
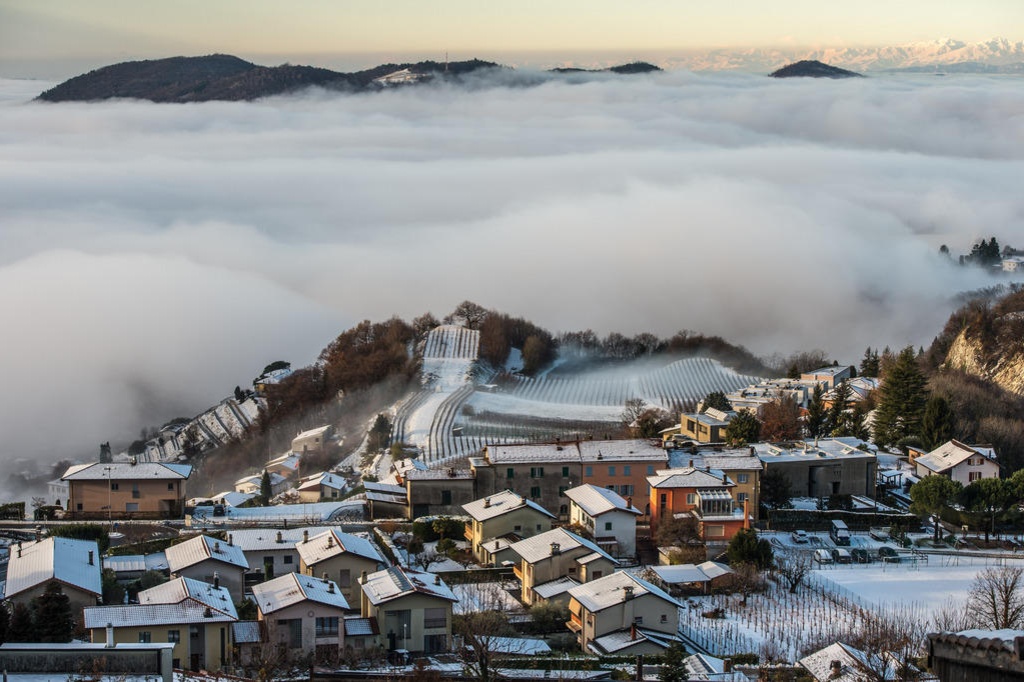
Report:
[[[716,49],[672,55],[662,66],[690,71],[766,72],[801,59],[817,59],[853,71],[885,71],[959,67],[1000,71],[1024,63],[1024,41],[993,38],[966,43],[943,38],[889,47],[836,47],[820,49],[752,48]],[[1017,71],[1018,69],[1009,69]]]

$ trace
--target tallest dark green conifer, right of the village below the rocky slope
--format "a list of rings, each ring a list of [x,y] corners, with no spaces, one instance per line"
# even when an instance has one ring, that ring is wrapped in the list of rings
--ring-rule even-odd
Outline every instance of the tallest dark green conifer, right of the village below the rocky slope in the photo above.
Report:
[[[928,388],[913,346],[907,346],[896,356],[879,394],[874,442],[885,446],[896,444],[907,436],[920,437]]]

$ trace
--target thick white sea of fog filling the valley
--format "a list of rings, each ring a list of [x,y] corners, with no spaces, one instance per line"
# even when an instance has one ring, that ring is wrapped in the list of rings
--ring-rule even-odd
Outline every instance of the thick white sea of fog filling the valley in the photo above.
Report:
[[[183,105],[0,81],[0,456],[91,453],[467,298],[856,361],[991,284],[940,244],[1024,245],[1019,80],[543,79]]]

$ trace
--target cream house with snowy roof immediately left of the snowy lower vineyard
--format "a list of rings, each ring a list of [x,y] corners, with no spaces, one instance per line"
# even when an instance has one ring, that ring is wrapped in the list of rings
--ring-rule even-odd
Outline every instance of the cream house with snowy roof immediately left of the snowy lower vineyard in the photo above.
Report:
[[[679,641],[681,604],[632,573],[617,571],[569,590],[569,622],[584,653],[660,654]]]

